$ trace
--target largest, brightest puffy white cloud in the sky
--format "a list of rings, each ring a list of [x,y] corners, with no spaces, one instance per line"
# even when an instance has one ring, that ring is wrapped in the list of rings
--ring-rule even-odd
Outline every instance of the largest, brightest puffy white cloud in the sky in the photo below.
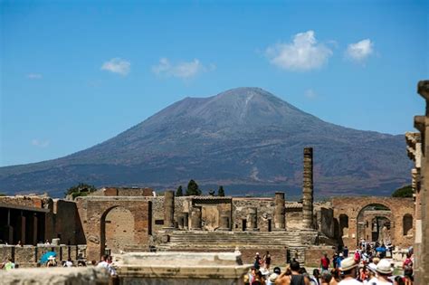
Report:
[[[332,51],[318,43],[314,31],[297,33],[292,43],[277,43],[267,48],[266,56],[270,62],[284,70],[310,71],[328,62]]]

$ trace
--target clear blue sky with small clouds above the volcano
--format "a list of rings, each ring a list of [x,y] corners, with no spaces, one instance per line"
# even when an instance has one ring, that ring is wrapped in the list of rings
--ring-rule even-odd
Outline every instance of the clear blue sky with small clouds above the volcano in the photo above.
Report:
[[[0,166],[65,156],[240,86],[390,134],[424,112],[427,1],[0,3]]]

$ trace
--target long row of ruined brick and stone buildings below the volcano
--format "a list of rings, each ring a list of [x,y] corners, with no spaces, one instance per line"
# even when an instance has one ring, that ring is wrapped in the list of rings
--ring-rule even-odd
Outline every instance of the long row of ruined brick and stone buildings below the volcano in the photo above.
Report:
[[[47,250],[62,258],[98,260],[104,252],[234,252],[252,262],[318,264],[322,252],[354,249],[360,239],[412,245],[412,198],[337,197],[314,203],[313,149],[303,151],[302,201],[273,197],[156,196],[148,188],[106,187],[76,201],[37,196],[0,197],[0,258],[37,261]],[[60,239],[58,245],[37,245]],[[64,245],[61,245],[64,244]],[[31,258],[29,258],[31,256]]]

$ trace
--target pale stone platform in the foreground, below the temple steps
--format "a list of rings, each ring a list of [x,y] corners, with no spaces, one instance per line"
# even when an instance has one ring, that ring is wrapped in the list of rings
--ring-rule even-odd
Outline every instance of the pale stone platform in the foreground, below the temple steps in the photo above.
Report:
[[[118,258],[120,284],[243,284],[251,267],[232,252],[130,252]]]

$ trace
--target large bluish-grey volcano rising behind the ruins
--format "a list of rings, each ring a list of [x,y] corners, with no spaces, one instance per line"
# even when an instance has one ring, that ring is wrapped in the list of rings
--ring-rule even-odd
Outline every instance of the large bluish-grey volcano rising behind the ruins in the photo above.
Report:
[[[297,195],[303,147],[314,147],[318,195],[390,195],[409,183],[404,136],[340,127],[265,90],[237,88],[177,101],[67,157],[0,167],[0,192],[62,196],[78,182],[176,189],[193,178],[233,195]]]

